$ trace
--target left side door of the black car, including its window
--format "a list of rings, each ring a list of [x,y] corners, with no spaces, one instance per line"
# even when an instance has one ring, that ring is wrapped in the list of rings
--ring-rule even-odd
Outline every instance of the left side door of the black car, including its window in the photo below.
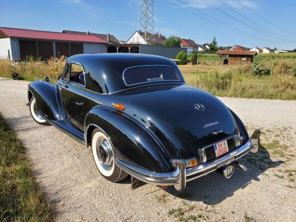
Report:
[[[66,69],[59,81],[59,90],[67,118],[80,131],[84,131],[85,118],[85,73],[83,66],[67,62]]]

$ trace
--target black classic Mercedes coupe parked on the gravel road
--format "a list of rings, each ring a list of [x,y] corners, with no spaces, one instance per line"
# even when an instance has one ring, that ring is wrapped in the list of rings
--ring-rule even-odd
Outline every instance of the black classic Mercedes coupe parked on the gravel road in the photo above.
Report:
[[[215,170],[229,178],[237,159],[259,151],[240,118],[219,99],[185,83],[171,60],[141,54],[82,54],[67,59],[54,83],[29,84],[33,119],[53,125],[86,147],[111,182],[131,175],[184,190]]]

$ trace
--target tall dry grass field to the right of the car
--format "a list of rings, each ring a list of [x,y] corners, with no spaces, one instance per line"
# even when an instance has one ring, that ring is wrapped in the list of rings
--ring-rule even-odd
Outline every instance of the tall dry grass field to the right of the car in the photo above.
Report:
[[[291,59],[278,61],[274,67],[271,84],[270,75],[260,77],[252,75],[252,65],[198,64],[197,84],[195,84],[195,66],[183,65],[179,68],[189,85],[204,89],[216,96],[295,100],[294,62]],[[271,62],[265,62],[264,65],[267,68],[271,67]]]

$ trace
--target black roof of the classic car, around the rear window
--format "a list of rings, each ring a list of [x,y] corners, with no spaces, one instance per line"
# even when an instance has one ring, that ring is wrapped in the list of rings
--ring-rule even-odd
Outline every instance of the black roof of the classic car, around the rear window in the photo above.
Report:
[[[179,73],[181,82],[185,83],[178,66],[162,56],[138,53],[78,54],[67,61],[80,63],[86,74],[86,87],[103,94],[130,88],[124,84],[122,74],[127,68],[136,66],[171,66]]]

